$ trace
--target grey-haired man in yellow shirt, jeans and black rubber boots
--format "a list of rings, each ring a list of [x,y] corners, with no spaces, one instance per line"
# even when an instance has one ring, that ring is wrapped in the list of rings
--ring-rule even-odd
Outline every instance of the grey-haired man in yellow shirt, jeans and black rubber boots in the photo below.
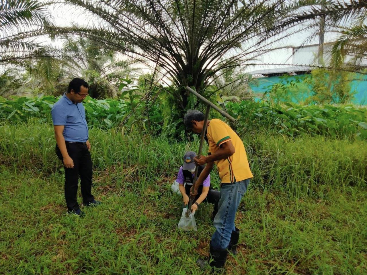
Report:
[[[194,158],[196,165],[206,166],[192,187],[191,195],[197,194],[197,188],[210,174],[214,163],[222,180],[218,213],[214,218],[216,231],[210,242],[209,254],[212,261],[209,264],[213,268],[223,268],[228,251],[237,253],[240,230],[235,226],[235,216],[253,176],[242,140],[225,122],[212,119],[204,125],[204,114],[198,110],[189,110],[184,123],[188,130],[197,134],[206,127],[205,139],[209,145],[207,156]],[[203,268],[206,266],[204,260],[198,260],[198,263]]]

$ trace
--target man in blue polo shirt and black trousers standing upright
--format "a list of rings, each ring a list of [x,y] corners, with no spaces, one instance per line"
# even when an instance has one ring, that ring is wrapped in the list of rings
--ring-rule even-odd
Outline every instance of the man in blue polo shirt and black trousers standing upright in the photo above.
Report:
[[[65,168],[65,200],[69,214],[82,216],[77,202],[80,176],[83,204],[97,206],[91,194],[92,159],[91,144],[88,140],[86,112],[81,103],[88,95],[88,83],[74,78],[69,83],[68,92],[52,106],[51,115],[56,138],[56,154]]]

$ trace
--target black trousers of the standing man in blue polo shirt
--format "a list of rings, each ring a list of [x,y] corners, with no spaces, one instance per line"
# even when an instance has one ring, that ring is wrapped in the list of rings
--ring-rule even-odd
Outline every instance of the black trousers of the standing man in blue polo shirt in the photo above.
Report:
[[[65,142],[66,150],[70,158],[73,159],[74,168],[65,168],[65,200],[68,210],[78,210],[77,202],[78,181],[80,176],[80,189],[83,197],[83,203],[94,200],[91,194],[92,188],[92,158],[85,143]],[[63,162],[63,157],[59,147],[56,144],[57,157]]]

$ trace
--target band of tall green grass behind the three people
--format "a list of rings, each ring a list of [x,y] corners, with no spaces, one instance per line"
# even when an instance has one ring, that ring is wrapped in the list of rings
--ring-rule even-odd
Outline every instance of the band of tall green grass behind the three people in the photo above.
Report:
[[[325,188],[362,187],[366,184],[366,142],[299,137],[291,139],[264,132],[242,137],[255,184],[263,189],[286,188],[297,194],[315,195]],[[170,176],[193,143],[150,135],[128,135],[123,130],[90,130],[95,169],[121,175],[125,170],[146,179]],[[206,148],[204,148],[204,151]],[[51,125],[37,120],[27,124],[3,123],[0,128],[3,161],[25,169],[52,173],[59,167]],[[136,169],[134,169],[136,168]],[[109,176],[110,177],[110,176]],[[113,180],[109,178],[109,180]]]

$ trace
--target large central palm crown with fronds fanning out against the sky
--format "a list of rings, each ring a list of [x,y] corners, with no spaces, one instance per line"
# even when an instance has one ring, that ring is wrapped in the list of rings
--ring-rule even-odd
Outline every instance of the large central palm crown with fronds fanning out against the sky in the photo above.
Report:
[[[306,3],[303,3],[306,2]],[[99,18],[99,26],[55,28],[89,37],[100,47],[123,52],[146,65],[157,64],[178,88],[171,91],[181,110],[183,87],[203,93],[222,70],[258,63],[299,22],[313,18],[301,4],[285,0],[67,0]],[[317,10],[317,7],[313,7]]]

